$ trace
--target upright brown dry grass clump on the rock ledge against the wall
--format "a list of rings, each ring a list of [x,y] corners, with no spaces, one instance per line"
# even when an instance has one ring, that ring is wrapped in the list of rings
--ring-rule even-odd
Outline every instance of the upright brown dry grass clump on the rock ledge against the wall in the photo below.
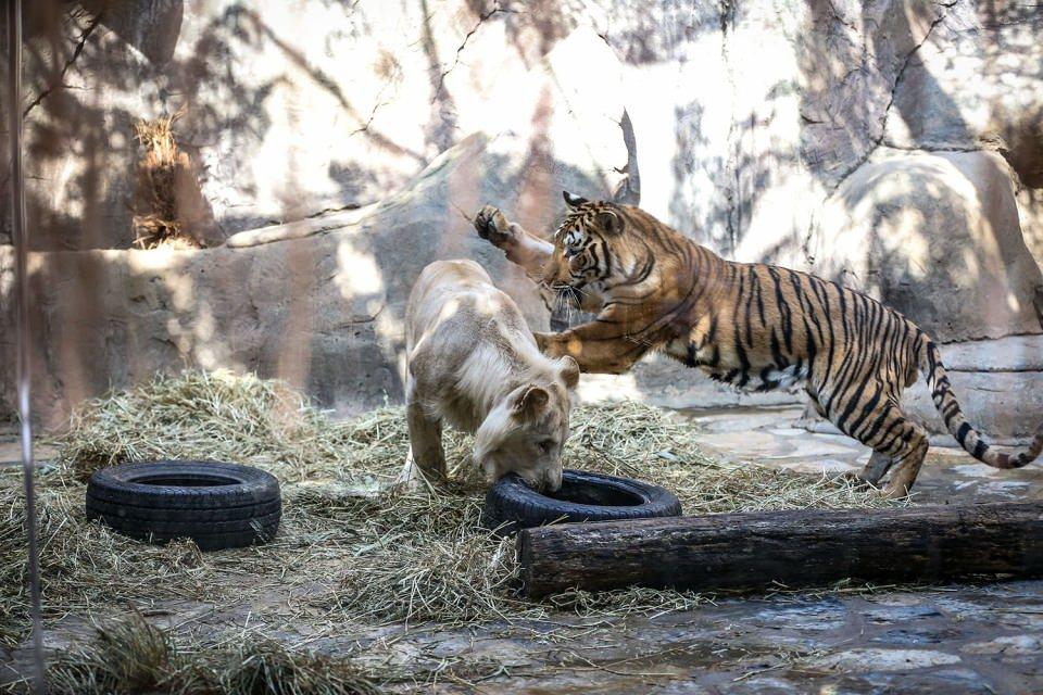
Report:
[[[213,224],[191,160],[174,138],[174,122],[180,115],[134,124],[134,135],[144,150],[138,163],[133,219],[134,244],[142,249],[199,249]]]

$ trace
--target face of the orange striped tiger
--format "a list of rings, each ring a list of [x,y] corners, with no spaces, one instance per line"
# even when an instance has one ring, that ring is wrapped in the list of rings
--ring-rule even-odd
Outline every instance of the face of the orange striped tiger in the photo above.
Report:
[[[633,229],[627,206],[565,192],[568,215],[554,232],[554,253],[543,283],[575,306],[593,294],[602,302],[613,290],[643,281],[651,251]]]

